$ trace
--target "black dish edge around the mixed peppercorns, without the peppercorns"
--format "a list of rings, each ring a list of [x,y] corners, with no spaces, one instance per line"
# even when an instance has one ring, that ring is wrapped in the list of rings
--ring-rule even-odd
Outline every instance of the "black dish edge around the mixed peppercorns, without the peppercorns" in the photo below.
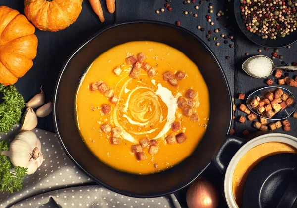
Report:
[[[246,28],[245,23],[243,23],[242,17],[240,15],[240,12],[241,12],[239,8],[240,5],[241,5],[240,0],[234,0],[234,14],[235,14],[236,22],[239,28],[241,29],[241,31],[243,32],[243,34],[245,34],[245,36],[247,36],[247,38],[252,42],[254,42],[255,44],[263,47],[267,47],[267,48],[282,48],[282,47],[289,46],[297,41],[297,30],[290,32],[290,34],[286,35],[284,38],[278,37],[276,39],[270,39],[270,38],[262,39],[260,36],[257,36],[256,34],[249,32]]]

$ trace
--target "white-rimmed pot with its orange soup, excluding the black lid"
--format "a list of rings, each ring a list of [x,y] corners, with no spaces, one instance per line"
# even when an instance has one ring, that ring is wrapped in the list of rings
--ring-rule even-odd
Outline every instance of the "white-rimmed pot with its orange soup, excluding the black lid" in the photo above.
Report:
[[[229,208],[242,207],[248,174],[260,161],[279,153],[297,153],[297,138],[281,133],[256,137],[242,146],[231,159],[225,175],[224,191]]]

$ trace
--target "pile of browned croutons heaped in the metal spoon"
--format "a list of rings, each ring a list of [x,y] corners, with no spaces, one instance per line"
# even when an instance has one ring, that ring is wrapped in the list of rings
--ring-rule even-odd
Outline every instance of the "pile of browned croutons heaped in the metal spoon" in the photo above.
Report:
[[[250,105],[256,109],[259,114],[267,118],[272,118],[280,110],[284,110],[293,103],[293,98],[284,93],[281,88],[277,88],[274,92],[268,92],[265,97],[256,96],[250,102]]]

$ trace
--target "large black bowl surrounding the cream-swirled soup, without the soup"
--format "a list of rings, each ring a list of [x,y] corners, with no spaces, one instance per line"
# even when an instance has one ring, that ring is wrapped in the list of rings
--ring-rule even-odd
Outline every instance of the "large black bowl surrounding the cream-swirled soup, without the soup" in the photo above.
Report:
[[[134,175],[107,166],[89,151],[77,129],[74,102],[82,75],[94,59],[119,44],[143,40],[170,45],[197,64],[209,90],[210,120],[196,150],[183,162],[160,173]],[[222,67],[200,38],[175,25],[136,21],[115,24],[99,31],[69,57],[56,83],[53,117],[65,152],[94,181],[123,195],[149,198],[171,194],[186,187],[212,160],[215,161],[212,158],[232,121],[232,101]]]

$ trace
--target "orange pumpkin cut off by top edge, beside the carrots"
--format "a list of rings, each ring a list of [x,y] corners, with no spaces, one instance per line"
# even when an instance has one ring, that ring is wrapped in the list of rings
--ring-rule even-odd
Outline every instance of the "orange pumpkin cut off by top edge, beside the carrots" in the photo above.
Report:
[[[27,18],[40,30],[56,32],[76,21],[83,0],[25,0]]]

